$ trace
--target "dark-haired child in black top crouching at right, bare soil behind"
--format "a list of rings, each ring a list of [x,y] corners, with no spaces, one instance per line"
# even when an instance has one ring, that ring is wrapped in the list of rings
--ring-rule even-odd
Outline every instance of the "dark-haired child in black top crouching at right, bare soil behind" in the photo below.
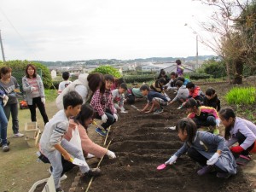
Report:
[[[206,96],[204,97],[203,105],[215,108],[217,111],[219,111],[220,101],[218,99],[218,96],[215,90],[212,87],[207,89]]]

